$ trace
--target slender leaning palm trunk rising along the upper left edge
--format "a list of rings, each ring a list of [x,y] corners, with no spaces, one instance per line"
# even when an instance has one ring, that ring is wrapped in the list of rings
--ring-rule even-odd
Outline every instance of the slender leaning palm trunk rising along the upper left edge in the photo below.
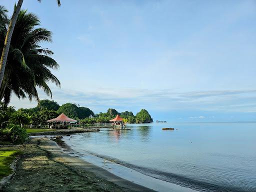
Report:
[[[2,49],[2,54],[1,54],[1,59],[0,59],[0,85],[2,83],[2,79],[4,76],[4,69],[7,61],[7,56],[8,56],[8,51],[10,47],[10,40],[11,40],[11,35],[18,17],[18,13],[20,11],[21,5],[22,5],[23,0],[18,0],[17,6],[15,7],[13,14],[10,19],[10,23],[8,26],[8,30],[5,36],[4,44],[3,44],[3,49]]]

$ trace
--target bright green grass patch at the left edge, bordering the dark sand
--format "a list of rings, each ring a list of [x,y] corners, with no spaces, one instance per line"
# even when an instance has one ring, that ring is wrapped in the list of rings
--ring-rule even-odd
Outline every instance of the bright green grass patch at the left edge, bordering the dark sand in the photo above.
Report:
[[[17,153],[17,150],[0,150],[0,179],[11,173],[10,164]]]

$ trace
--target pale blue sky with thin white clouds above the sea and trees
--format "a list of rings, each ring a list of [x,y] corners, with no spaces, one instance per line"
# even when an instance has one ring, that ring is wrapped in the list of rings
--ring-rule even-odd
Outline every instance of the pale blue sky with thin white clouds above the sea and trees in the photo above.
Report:
[[[0,0],[12,13],[17,0]],[[24,0],[53,32],[52,99],[154,120],[256,119],[255,0]],[[51,99],[39,91],[40,99]],[[15,108],[36,102],[12,95]]]

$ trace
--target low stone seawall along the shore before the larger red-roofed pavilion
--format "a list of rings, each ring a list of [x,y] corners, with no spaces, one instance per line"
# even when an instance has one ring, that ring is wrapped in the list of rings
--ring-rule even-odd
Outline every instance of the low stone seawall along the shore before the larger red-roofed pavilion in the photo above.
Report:
[[[28,136],[72,134],[72,133],[91,132],[91,131],[99,131],[99,128],[64,129],[64,130],[53,130],[53,131],[45,131],[45,132],[31,132],[28,134]]]

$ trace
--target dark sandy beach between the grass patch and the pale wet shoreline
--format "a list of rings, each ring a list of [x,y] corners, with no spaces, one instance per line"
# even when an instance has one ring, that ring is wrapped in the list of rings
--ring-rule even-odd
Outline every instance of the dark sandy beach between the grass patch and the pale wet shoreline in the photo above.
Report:
[[[49,138],[32,138],[10,148],[18,148],[22,155],[2,191],[153,191],[69,156]]]

